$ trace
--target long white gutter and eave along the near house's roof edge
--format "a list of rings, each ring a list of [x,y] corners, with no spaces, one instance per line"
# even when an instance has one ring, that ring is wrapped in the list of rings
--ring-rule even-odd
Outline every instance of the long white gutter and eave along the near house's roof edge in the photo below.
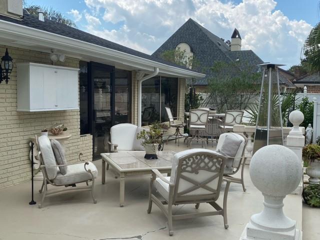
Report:
[[[136,69],[152,71],[154,67],[157,67],[159,68],[159,72],[164,74],[194,78],[205,77],[205,74],[202,73],[190,71],[176,66],[170,66],[111,48],[5,20],[0,20],[0,32],[1,37],[7,38],[8,40],[19,39],[25,42],[32,42],[34,45],[57,48],[78,54],[85,54],[87,56],[96,56],[101,59],[112,59],[115,62],[133,66]]]

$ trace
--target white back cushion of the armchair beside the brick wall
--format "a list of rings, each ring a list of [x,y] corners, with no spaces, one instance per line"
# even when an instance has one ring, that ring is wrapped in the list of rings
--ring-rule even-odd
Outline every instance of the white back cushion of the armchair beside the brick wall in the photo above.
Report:
[[[42,135],[39,136],[37,139],[43,164],[46,166],[56,165],[54,153],[49,138],[45,135]],[[49,180],[52,180],[56,177],[57,167],[45,167],[45,172]]]

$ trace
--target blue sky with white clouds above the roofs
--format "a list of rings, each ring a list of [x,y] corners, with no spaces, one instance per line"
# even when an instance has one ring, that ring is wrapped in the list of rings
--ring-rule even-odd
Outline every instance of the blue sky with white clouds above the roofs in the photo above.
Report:
[[[51,6],[81,30],[151,54],[188,18],[262,60],[299,62],[301,46],[319,20],[318,0],[26,0]]]

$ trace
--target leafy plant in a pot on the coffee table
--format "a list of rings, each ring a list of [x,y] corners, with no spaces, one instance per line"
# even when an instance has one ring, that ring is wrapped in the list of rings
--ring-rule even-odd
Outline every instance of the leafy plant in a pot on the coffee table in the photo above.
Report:
[[[142,139],[142,146],[145,149],[144,158],[157,159],[156,150],[159,143],[162,140],[162,129],[159,123],[152,123],[148,130],[143,129],[136,134],[137,139]]]

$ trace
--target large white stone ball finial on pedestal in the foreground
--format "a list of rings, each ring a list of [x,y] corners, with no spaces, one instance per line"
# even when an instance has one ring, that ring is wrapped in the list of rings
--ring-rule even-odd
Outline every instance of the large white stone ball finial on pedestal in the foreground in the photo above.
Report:
[[[264,209],[253,214],[240,240],[298,240],[302,233],[295,220],[284,215],[283,198],[292,192],[302,178],[301,161],[289,148],[267,145],[255,152],[249,168],[252,183],[264,196]]]

